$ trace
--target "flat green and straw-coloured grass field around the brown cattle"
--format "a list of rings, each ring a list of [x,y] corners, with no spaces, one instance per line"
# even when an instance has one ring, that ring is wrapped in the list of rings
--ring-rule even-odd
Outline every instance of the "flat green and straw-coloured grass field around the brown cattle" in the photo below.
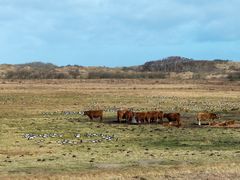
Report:
[[[239,102],[237,83],[2,81],[0,179],[239,179],[240,128],[195,120],[240,123]],[[117,108],[180,112],[183,125],[119,124]],[[103,122],[78,113],[89,109]]]

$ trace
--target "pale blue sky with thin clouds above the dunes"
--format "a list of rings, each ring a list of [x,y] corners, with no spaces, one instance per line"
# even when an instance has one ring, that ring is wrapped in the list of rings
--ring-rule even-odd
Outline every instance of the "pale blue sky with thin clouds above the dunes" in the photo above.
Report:
[[[240,0],[0,0],[0,64],[240,60]]]

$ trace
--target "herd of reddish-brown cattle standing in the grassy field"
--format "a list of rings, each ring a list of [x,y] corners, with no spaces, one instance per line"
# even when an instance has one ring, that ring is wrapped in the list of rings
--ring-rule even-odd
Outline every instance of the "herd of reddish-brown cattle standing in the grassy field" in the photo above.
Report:
[[[90,110],[84,111],[83,115],[88,116],[91,120],[95,118],[103,119],[103,110]],[[117,120],[120,123],[122,120],[128,123],[160,123],[163,124],[163,118],[168,120],[169,125],[176,127],[181,126],[180,113],[163,113],[162,111],[149,111],[149,112],[133,112],[131,110],[118,110]],[[196,120],[201,126],[201,121],[210,121],[219,119],[220,117],[215,113],[199,112],[196,115]],[[209,122],[210,124],[210,122]]]

